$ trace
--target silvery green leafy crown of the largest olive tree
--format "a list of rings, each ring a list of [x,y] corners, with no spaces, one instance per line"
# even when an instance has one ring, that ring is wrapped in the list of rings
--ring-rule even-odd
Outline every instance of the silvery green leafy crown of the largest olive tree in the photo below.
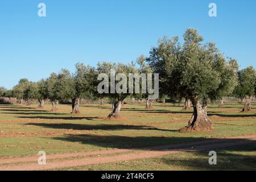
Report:
[[[216,45],[203,43],[203,37],[193,28],[185,31],[183,39],[181,45],[178,37],[165,36],[151,49],[147,60],[154,72],[160,74],[160,90],[174,98],[197,99],[232,92],[236,85],[236,61],[225,60]],[[227,85],[223,84],[224,75],[233,77]]]

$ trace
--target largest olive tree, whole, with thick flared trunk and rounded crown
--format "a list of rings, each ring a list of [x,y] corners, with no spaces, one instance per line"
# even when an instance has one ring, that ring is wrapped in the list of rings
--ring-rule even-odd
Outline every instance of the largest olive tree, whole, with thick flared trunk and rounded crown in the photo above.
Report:
[[[182,46],[177,37],[160,39],[148,61],[171,97],[189,98],[192,103],[192,118],[180,131],[213,130],[204,106],[209,94],[221,84],[221,53],[214,43],[203,44],[203,37],[193,28],[188,28],[183,38]]]

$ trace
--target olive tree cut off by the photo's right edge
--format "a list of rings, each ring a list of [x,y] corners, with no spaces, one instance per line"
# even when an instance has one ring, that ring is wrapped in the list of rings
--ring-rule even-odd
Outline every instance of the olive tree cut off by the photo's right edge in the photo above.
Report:
[[[246,98],[245,107],[242,111],[251,109],[251,98],[255,96],[256,71],[253,67],[247,67],[238,72],[238,85],[234,95],[238,98]]]

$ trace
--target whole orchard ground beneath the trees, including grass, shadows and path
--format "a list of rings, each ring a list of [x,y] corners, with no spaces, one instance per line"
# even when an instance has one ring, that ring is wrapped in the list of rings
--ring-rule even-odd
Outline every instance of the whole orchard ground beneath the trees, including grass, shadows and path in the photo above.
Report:
[[[192,110],[183,104],[126,104],[122,118],[106,119],[111,105],[0,105],[0,169],[197,170],[256,169],[256,104],[208,105],[213,131],[179,133]],[[167,150],[168,149],[168,150]],[[209,165],[209,151],[217,165]],[[45,151],[46,165],[38,165]]]

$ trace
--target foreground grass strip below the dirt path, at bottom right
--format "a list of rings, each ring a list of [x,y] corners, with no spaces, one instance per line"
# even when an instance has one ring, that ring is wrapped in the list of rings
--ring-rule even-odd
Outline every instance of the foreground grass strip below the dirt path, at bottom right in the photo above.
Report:
[[[182,152],[159,158],[131,160],[119,163],[63,168],[61,170],[89,171],[190,171],[190,170],[256,170],[256,144],[216,150],[217,165],[209,165],[208,152]]]

